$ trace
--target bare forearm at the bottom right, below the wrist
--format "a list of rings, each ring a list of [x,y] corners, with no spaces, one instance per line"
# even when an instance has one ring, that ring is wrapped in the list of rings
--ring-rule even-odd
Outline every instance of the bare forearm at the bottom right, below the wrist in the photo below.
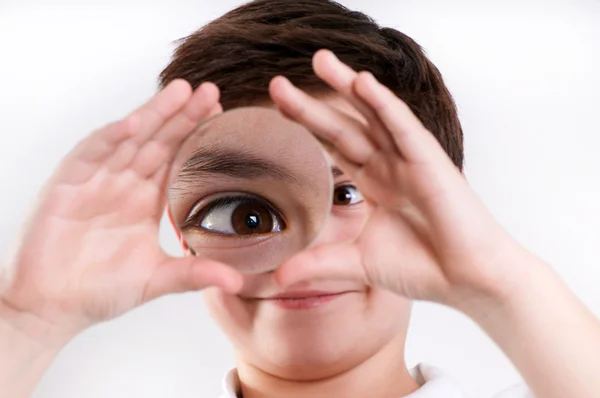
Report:
[[[600,397],[600,322],[541,260],[517,266],[499,300],[469,315],[512,360],[536,397]]]

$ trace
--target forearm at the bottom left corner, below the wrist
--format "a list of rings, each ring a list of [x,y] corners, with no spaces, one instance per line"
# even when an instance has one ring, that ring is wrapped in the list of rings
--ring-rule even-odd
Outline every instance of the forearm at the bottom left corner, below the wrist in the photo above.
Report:
[[[0,397],[26,398],[58,355],[62,344],[39,341],[24,332],[20,320],[13,319],[6,309],[0,313]]]

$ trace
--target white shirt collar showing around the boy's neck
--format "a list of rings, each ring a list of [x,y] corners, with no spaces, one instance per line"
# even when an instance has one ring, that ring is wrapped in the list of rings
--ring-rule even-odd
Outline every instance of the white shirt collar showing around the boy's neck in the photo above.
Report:
[[[461,391],[459,384],[440,369],[419,364],[410,370],[412,377],[421,388],[412,394],[399,398],[469,398]],[[239,398],[240,382],[235,369],[223,379],[223,392],[219,398]],[[525,385],[513,386],[493,398],[533,398]]]

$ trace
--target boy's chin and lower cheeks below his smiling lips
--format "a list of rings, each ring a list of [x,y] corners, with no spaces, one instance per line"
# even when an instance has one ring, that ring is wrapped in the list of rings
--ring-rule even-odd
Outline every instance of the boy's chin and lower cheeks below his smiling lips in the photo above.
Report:
[[[238,359],[280,378],[332,377],[392,341],[399,342],[399,352],[403,350],[410,303],[385,291],[348,295],[308,310],[272,303],[249,308],[235,298],[214,294],[207,297],[209,310]]]

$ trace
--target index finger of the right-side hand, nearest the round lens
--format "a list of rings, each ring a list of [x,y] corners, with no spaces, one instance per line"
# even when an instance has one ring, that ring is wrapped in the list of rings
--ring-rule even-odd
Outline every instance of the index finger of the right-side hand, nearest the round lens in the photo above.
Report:
[[[275,77],[269,91],[282,112],[333,144],[350,162],[364,164],[375,153],[361,122],[311,97],[285,77]]]

